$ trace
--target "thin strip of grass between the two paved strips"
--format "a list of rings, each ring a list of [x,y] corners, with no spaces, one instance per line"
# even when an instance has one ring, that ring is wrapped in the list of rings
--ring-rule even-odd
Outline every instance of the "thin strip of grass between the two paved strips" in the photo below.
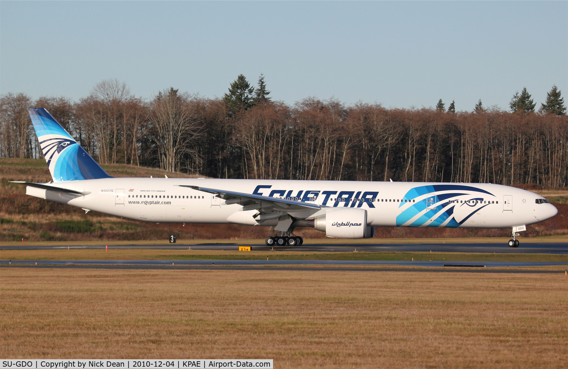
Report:
[[[550,261],[568,264],[568,255],[462,252],[298,252],[160,249],[2,250],[0,260],[361,260],[361,261]]]

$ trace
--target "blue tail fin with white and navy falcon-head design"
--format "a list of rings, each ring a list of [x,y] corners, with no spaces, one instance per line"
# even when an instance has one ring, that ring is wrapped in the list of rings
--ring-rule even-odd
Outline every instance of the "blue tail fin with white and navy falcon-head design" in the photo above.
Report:
[[[53,182],[112,178],[44,108],[29,108]]]

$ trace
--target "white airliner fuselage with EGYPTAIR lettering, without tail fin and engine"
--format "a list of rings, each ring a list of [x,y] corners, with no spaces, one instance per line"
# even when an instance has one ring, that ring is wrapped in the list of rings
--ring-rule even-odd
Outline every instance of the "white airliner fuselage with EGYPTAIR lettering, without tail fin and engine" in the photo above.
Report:
[[[557,213],[553,205],[537,203],[542,197],[536,193],[496,184],[108,178],[53,185],[88,194],[78,196],[29,186],[27,193],[85,210],[160,223],[272,226],[277,222],[257,222],[253,218],[256,210],[243,211],[238,203],[227,205],[211,193],[179,185],[291,198],[327,210],[360,207],[367,210],[367,226],[508,228],[542,222]],[[290,215],[314,219],[322,209]]]

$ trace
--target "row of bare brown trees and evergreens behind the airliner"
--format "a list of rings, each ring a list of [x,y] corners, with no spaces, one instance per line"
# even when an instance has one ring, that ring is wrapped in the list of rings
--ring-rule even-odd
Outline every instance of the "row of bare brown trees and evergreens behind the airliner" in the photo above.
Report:
[[[272,99],[244,75],[219,99],[174,88],[152,99],[103,80],[89,96],[5,94],[0,155],[41,158],[26,108],[44,107],[98,162],[215,178],[443,181],[568,185],[568,118],[556,86],[536,104],[524,88],[510,111],[387,109],[307,97]]]

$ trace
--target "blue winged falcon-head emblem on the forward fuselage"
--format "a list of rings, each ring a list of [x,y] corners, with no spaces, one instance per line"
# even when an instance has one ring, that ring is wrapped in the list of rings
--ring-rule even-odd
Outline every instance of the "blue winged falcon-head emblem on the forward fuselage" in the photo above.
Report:
[[[441,193],[446,191],[456,191],[451,193]],[[486,190],[475,188],[473,186],[467,185],[456,185],[456,184],[432,184],[419,186],[410,189],[405,195],[403,200],[399,205],[399,208],[406,207],[396,217],[396,226],[403,226],[406,224],[407,227],[449,227],[455,228],[459,227],[463,222],[471,217],[481,208],[472,209],[471,213],[465,218],[458,222],[455,219],[453,202],[442,201],[458,198],[460,196],[467,195],[477,195],[480,193],[488,194],[494,196],[492,193]],[[426,196],[430,194],[431,196]],[[468,199],[468,200],[483,200],[482,198]],[[414,201],[414,202],[412,202]],[[428,205],[430,201],[430,205]],[[430,208],[430,209],[428,209]],[[412,220],[414,219],[414,220]],[[412,222],[411,222],[412,221]],[[410,224],[407,224],[411,222]],[[428,223],[430,222],[430,223]],[[424,225],[428,223],[427,225]]]

